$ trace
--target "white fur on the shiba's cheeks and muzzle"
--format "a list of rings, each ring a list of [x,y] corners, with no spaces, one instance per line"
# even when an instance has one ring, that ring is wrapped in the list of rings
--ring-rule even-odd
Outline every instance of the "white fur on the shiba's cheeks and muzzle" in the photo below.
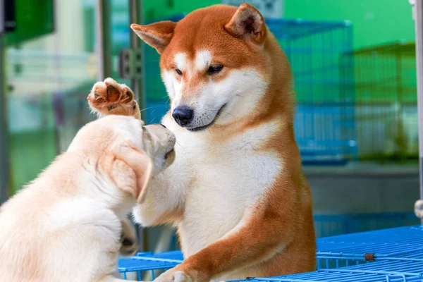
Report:
[[[202,63],[195,61],[195,64],[196,67],[200,65],[201,70],[204,71]],[[185,75],[189,76],[188,69],[190,68],[184,69]],[[254,68],[229,70],[223,80],[217,82],[209,80],[190,88],[184,87],[183,80],[178,80],[176,75],[173,70],[163,72],[166,90],[172,99],[171,111],[180,105],[190,106],[195,111],[192,126],[202,126],[212,122],[223,105],[226,106],[216,119],[216,124],[225,124],[244,118],[255,109],[269,84]]]

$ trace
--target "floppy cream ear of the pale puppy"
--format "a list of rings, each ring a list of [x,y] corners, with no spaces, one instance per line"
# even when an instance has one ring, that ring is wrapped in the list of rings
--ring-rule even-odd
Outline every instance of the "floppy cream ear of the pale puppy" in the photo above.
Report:
[[[123,180],[121,181],[119,188],[133,194],[137,202],[142,202],[145,197],[147,185],[149,180],[152,178],[153,162],[152,159],[141,149],[133,145],[119,148],[118,152],[115,152],[115,164],[112,168],[111,175],[116,181],[116,178]],[[128,176],[128,172],[132,173],[132,176]]]

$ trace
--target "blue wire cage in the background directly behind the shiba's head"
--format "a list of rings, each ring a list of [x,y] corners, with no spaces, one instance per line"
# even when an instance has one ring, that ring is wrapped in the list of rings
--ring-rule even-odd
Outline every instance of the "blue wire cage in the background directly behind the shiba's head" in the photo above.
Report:
[[[286,19],[268,19],[266,24],[293,68],[298,102],[294,128],[303,163],[345,164],[355,158],[353,60],[341,56],[352,49],[352,25]],[[145,69],[147,122],[157,122],[168,110],[168,97],[159,54],[151,47],[145,47]]]

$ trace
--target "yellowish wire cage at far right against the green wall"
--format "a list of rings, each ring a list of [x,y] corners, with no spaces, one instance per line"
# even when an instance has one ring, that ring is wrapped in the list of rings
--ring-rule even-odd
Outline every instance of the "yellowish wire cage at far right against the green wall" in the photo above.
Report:
[[[355,114],[362,160],[417,159],[414,42],[392,42],[345,54],[355,63]]]

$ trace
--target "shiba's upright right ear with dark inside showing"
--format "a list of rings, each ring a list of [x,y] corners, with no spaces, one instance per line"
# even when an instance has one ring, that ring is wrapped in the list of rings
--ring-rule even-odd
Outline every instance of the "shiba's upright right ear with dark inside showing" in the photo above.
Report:
[[[234,37],[250,39],[262,44],[266,39],[266,24],[262,14],[250,4],[242,4],[235,12],[225,30]]]

